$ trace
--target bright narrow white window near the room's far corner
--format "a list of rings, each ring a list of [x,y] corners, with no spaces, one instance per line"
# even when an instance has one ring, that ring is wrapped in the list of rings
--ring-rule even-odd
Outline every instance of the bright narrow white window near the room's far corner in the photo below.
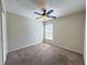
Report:
[[[53,40],[53,24],[52,23],[45,25],[45,39]]]

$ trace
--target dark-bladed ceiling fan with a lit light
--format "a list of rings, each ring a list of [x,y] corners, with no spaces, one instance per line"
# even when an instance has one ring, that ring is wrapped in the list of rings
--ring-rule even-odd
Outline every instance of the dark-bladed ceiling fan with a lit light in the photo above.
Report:
[[[46,11],[46,9],[42,9],[42,11],[43,11],[43,13],[34,12],[35,14],[41,15],[41,17],[39,17],[36,19],[41,19],[41,18],[53,18],[53,19],[56,19],[56,17],[50,15],[52,12],[54,12],[54,10]]]

